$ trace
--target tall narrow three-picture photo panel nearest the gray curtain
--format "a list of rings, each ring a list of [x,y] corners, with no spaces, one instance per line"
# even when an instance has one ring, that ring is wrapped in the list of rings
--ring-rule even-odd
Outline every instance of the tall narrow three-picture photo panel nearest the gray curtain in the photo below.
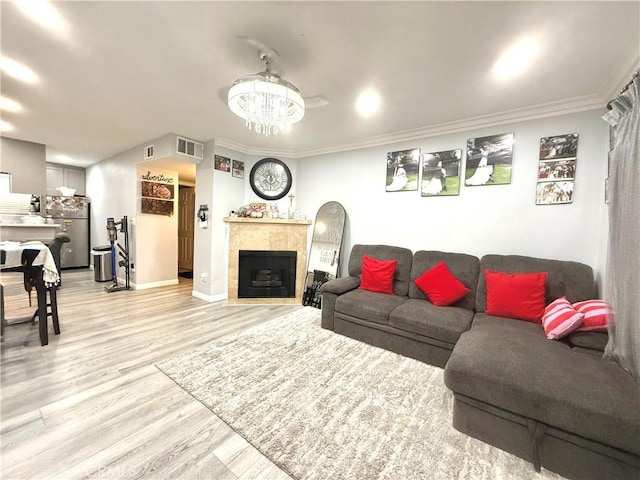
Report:
[[[557,205],[573,201],[578,134],[540,139],[536,205]]]

